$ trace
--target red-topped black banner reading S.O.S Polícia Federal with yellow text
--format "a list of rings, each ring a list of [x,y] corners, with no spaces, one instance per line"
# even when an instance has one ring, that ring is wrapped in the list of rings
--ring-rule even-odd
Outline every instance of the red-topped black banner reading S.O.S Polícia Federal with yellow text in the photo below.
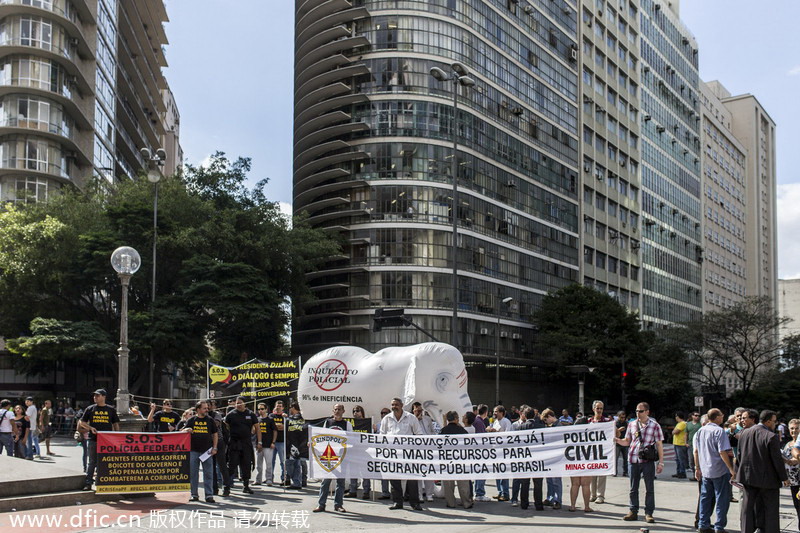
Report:
[[[97,492],[188,491],[190,439],[184,432],[99,432]]]

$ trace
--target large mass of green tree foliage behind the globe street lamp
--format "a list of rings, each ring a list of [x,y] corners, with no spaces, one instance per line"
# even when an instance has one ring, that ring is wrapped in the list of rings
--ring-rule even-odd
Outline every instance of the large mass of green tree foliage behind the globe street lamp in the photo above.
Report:
[[[157,296],[151,303],[153,186],[140,178],[111,195],[67,191],[47,204],[0,212],[0,336],[19,364],[44,372],[80,358],[115,368],[121,287],[118,246],[142,256],[129,299],[132,390],[167,362],[213,351],[223,363],[270,358],[283,347],[289,305],[309,298],[305,273],[338,251],[303,219],[289,220],[246,187],[250,160],[217,153],[159,183]]]

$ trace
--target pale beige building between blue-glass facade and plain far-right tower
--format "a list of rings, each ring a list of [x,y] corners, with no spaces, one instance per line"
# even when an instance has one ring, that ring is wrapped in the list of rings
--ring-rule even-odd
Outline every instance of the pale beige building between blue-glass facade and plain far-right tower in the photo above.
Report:
[[[720,311],[747,291],[747,149],[731,131],[733,116],[719,82],[701,83],[703,184],[703,311]]]

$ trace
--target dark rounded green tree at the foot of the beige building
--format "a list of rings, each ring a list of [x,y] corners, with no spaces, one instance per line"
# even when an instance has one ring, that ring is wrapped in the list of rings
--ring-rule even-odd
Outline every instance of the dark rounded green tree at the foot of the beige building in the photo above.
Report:
[[[609,295],[573,284],[544,297],[534,313],[539,328],[537,352],[555,365],[556,377],[571,366],[588,366],[587,394],[619,402],[622,362],[632,390],[647,362],[646,344],[636,313]]]

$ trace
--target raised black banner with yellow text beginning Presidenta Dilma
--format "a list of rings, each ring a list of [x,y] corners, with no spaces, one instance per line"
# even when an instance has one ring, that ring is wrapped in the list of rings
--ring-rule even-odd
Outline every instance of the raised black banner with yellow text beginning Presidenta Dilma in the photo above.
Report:
[[[242,396],[250,402],[294,395],[300,378],[299,362],[299,359],[286,361],[252,359],[233,367],[208,363],[209,398]]]

